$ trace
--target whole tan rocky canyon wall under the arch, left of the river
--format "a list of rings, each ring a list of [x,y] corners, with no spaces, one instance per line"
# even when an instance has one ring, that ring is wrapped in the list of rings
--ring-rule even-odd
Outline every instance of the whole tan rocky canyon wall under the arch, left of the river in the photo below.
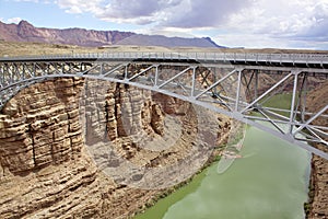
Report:
[[[206,160],[195,160],[200,151],[226,137],[230,119],[202,113],[101,81],[56,79],[24,89],[0,114],[0,218],[132,216],[163,193],[144,186],[152,170],[177,166],[167,176],[184,180],[192,172],[177,175]],[[126,163],[134,168],[121,174]]]

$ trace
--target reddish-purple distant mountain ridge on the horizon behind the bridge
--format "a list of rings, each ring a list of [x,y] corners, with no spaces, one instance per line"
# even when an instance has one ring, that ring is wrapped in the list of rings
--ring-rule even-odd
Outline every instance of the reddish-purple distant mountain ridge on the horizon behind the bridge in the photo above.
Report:
[[[221,47],[211,38],[166,37],[142,35],[133,32],[94,31],[85,28],[35,27],[27,21],[19,24],[0,22],[0,41],[70,44],[78,46],[138,45],[164,47]]]

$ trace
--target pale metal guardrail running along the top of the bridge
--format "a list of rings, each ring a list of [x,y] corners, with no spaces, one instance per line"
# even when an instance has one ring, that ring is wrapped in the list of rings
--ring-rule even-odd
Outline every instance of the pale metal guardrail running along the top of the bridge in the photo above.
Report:
[[[328,65],[328,54],[258,54],[258,53],[149,53],[149,51],[121,51],[121,53],[89,53],[65,54],[47,56],[19,56],[0,57],[0,62],[5,61],[36,61],[36,60],[66,60],[66,59],[167,59],[167,60],[203,60],[203,61],[251,61],[278,64],[317,64]]]

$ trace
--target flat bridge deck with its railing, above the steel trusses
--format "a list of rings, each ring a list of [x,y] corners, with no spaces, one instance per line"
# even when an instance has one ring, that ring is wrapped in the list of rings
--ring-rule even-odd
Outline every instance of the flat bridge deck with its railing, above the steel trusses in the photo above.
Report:
[[[242,53],[102,53],[51,56],[1,57],[0,62],[17,61],[197,61],[233,65],[328,68],[328,54],[242,54]]]

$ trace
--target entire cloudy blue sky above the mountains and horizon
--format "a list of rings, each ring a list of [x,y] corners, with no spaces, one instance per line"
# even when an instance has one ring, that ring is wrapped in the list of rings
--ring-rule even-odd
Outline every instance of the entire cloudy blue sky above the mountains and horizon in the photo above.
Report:
[[[247,48],[328,49],[328,0],[0,0],[0,21],[37,27],[211,37]]]

